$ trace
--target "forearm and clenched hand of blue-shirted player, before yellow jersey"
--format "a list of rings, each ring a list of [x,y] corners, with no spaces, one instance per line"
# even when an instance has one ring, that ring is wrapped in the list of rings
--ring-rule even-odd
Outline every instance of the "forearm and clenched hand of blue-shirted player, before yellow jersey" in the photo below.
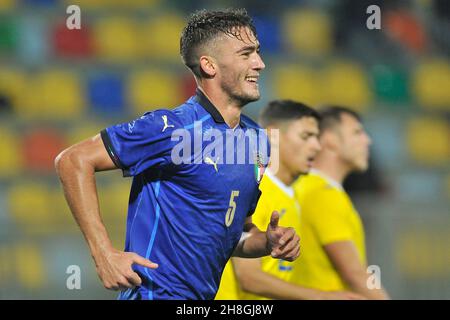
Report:
[[[258,258],[271,255],[276,259],[294,261],[300,255],[300,237],[294,228],[278,225],[278,212],[272,213],[270,223],[265,232],[260,231],[248,217],[244,225],[244,233],[233,252],[233,256],[241,258]]]

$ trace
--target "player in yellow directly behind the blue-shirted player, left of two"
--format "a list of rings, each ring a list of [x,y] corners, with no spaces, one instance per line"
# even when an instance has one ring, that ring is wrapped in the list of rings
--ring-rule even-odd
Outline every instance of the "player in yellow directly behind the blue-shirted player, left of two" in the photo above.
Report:
[[[278,211],[279,225],[294,226],[298,233],[301,210],[294,197],[292,183],[300,174],[308,172],[320,150],[318,121],[315,110],[293,101],[273,101],[262,111],[260,123],[272,138],[272,129],[279,129],[279,139],[271,139],[272,160],[274,154],[279,157],[277,164],[271,160],[261,181],[262,195],[252,216],[256,226],[267,226],[272,212]],[[296,269],[297,262],[285,262],[270,256],[232,258],[223,272],[216,299],[358,298],[351,293],[330,293],[295,285]]]

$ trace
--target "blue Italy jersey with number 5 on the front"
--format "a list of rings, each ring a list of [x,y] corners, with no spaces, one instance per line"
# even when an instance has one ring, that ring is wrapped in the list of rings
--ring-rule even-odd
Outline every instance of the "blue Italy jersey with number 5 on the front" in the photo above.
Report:
[[[258,143],[248,143],[248,133]],[[119,298],[213,299],[261,195],[266,135],[245,115],[230,129],[197,90],[174,110],[148,112],[101,136],[114,163],[133,176],[125,251],[159,264],[134,265],[142,285]]]

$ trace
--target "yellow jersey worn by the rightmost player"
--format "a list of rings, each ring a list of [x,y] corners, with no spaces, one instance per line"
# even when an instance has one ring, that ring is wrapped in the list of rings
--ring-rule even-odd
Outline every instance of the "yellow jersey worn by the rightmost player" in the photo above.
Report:
[[[366,264],[364,228],[350,197],[338,182],[317,170],[300,177],[294,190],[302,207],[297,284],[325,291],[348,289],[324,246],[352,241],[361,263]]]

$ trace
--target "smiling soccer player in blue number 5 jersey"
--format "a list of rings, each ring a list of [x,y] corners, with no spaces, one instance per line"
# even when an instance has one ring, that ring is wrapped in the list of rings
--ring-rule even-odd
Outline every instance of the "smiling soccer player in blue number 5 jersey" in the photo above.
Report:
[[[245,10],[199,11],[180,44],[195,96],[108,127],[55,160],[98,275],[106,288],[121,290],[120,299],[213,299],[231,255],[293,261],[300,251],[298,235],[278,226],[277,212],[265,231],[251,220],[268,155],[261,150],[267,138],[241,114],[259,99],[265,67],[250,17]],[[236,147],[252,130],[264,143]],[[236,145],[221,139],[230,132]],[[199,133],[208,138],[189,142]],[[243,152],[256,161],[229,161]],[[116,168],[133,177],[125,251],[111,244],[95,182],[95,172]]]

